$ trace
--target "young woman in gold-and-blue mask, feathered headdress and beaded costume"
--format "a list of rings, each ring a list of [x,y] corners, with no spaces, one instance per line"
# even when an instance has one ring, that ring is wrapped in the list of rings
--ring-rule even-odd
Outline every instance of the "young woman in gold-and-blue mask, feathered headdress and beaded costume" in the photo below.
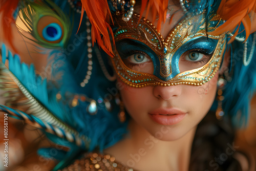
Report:
[[[62,146],[38,151],[54,170],[253,169],[233,136],[256,87],[255,7],[1,1],[17,27],[1,35],[0,107]]]

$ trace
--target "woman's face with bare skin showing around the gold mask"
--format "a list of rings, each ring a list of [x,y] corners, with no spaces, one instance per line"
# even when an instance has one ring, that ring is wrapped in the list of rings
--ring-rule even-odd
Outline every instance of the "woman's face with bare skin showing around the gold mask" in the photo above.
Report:
[[[169,9],[173,9],[172,12],[178,12],[170,23],[168,20],[169,14],[167,14],[166,23],[162,25],[160,31],[163,38],[167,36],[183,15],[180,7],[173,4],[170,4],[169,7]],[[151,16],[148,17],[148,20],[151,20]],[[144,61],[144,64],[140,65],[143,71],[147,73],[154,71],[150,60],[142,60],[139,55],[128,59],[132,59],[132,62],[135,63],[136,61],[142,61],[142,63]],[[131,63],[131,61],[129,62]],[[199,68],[202,63],[198,65]],[[132,66],[131,68],[136,71],[142,70],[138,66]],[[189,66],[184,68],[184,71],[187,70],[190,70]],[[207,114],[216,96],[218,74],[219,72],[202,86],[179,84],[168,87],[148,86],[145,88],[133,88],[127,86],[120,79],[117,81],[118,84],[122,84],[122,86],[119,86],[120,94],[125,109],[133,120],[156,138],[173,141],[181,138],[191,129],[195,129]],[[166,132],[166,130],[168,131]],[[164,132],[164,134],[159,136],[159,131]]]

